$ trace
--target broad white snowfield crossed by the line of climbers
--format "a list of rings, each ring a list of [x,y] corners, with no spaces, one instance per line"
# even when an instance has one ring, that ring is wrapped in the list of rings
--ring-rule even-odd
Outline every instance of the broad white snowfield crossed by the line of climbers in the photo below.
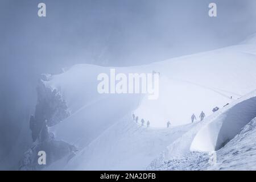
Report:
[[[189,165],[195,162],[194,154],[219,150],[256,117],[255,37],[237,46],[115,68],[126,74],[159,72],[158,100],[143,94],[99,94],[97,75],[108,74],[110,67],[81,64],[52,76],[45,84],[60,91],[71,116],[50,130],[57,139],[79,147],[79,152],[68,163],[48,169],[179,169],[162,166],[191,156],[183,160]],[[216,106],[220,110],[213,113]],[[202,110],[207,118],[199,122]],[[193,113],[197,121],[191,123]],[[141,118],[150,121],[150,128],[140,126]],[[171,128],[164,129],[167,121]]]

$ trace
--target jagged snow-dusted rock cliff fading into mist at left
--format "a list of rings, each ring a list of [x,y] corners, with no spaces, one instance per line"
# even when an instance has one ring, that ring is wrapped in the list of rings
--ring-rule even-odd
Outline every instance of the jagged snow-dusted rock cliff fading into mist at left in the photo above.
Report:
[[[48,88],[43,81],[51,78],[43,75],[39,81],[37,93],[38,102],[36,104],[35,115],[30,117],[30,129],[32,134],[32,147],[27,150],[20,160],[20,170],[40,170],[45,165],[38,164],[38,152],[45,151],[47,154],[46,165],[63,158],[73,156],[77,151],[76,147],[64,142],[55,140],[54,134],[49,133],[48,127],[57,125],[69,116],[68,106],[56,89]]]

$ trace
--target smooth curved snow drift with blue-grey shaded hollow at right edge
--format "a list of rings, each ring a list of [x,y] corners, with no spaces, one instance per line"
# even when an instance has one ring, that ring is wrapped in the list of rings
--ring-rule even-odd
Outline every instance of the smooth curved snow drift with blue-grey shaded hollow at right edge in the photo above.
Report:
[[[241,100],[197,133],[191,144],[192,151],[219,150],[256,117],[256,97]]]

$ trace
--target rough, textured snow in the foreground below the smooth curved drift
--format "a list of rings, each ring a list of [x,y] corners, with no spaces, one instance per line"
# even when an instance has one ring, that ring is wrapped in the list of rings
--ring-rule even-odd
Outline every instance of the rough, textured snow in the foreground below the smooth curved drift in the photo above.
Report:
[[[189,152],[182,158],[171,158],[158,170],[256,170],[256,118],[236,137],[216,152],[216,163],[209,163],[207,152]],[[152,168],[150,168],[152,169]]]

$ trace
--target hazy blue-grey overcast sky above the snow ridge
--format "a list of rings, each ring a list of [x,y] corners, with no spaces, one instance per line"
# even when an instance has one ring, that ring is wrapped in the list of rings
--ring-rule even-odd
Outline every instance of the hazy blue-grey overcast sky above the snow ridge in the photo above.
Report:
[[[45,2],[47,17],[39,18]],[[208,16],[210,2],[217,17]],[[77,63],[137,65],[241,42],[254,0],[0,0],[0,159],[36,101],[40,73]],[[7,148],[6,150],[3,150]]]

